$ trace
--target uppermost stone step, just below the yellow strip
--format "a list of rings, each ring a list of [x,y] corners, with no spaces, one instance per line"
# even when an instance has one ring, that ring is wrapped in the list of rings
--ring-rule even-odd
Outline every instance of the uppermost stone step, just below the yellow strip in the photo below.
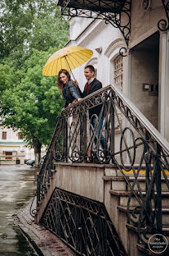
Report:
[[[111,187],[112,190],[119,190],[119,191],[130,191],[130,186],[127,184],[127,181],[130,183],[130,185],[133,185],[133,182],[135,181],[135,177],[127,177],[127,181],[124,180],[123,177],[113,177],[113,176],[104,176],[103,177],[104,181],[111,181]],[[167,179],[169,182],[169,179]],[[140,186],[141,191],[146,190],[146,184],[145,184],[145,177],[138,177],[137,178],[137,183],[134,187],[135,190],[138,190],[138,185]],[[156,190],[156,186],[155,190]],[[162,191],[167,192],[169,191],[169,188],[167,187],[167,182],[165,181],[164,178],[162,178]]]

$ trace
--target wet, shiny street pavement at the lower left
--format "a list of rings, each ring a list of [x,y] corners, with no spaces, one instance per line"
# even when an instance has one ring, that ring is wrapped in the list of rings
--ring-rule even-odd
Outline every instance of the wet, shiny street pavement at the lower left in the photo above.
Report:
[[[1,256],[37,255],[12,217],[33,198],[37,171],[26,165],[0,166]]]

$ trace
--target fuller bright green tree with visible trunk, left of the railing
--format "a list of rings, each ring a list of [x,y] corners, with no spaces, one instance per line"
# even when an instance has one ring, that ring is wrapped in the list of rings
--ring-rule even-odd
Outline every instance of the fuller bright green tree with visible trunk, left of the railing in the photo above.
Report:
[[[49,52],[34,49],[32,56],[24,63],[25,74],[18,75],[18,80],[23,76],[20,83],[4,89],[1,97],[2,123],[20,130],[22,137],[33,146],[37,162],[42,144],[47,145],[51,140],[56,117],[64,104],[56,87],[56,77],[42,75],[42,66],[48,55]]]

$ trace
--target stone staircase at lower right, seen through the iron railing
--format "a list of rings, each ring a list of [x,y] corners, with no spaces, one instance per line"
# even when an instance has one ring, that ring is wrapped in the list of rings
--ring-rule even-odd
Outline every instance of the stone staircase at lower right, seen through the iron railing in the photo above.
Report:
[[[135,177],[132,174],[127,174],[127,181],[132,185]],[[169,179],[169,176],[167,175]],[[138,227],[135,226],[132,222],[127,221],[127,202],[128,196],[131,194],[130,188],[127,185],[127,182],[124,180],[122,174],[117,171],[111,171],[103,177],[105,183],[105,207],[109,213],[110,218],[112,219],[113,225],[118,231],[122,243],[127,251],[127,254],[130,256],[143,256],[143,255],[155,255],[149,249],[148,246],[142,245],[138,240]],[[145,176],[141,175],[138,177],[138,182],[140,189],[145,196]],[[136,195],[140,198],[140,193],[135,186]],[[109,196],[110,195],[110,196]],[[139,203],[136,197],[131,196],[129,213],[132,213],[133,208],[139,206]],[[140,210],[136,210],[136,219],[139,217]],[[162,233],[166,236],[169,243],[169,191],[165,180],[162,178]],[[148,234],[150,237],[153,234]],[[164,255],[164,254],[162,254]],[[169,255],[169,252],[166,250],[165,255]]]

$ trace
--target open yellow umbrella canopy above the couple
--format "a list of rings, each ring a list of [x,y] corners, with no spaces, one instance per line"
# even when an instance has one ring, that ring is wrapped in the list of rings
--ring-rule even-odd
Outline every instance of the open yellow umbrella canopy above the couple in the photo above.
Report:
[[[42,69],[42,75],[58,75],[60,69],[72,71],[74,68],[87,62],[93,52],[80,46],[69,46],[60,49],[49,57]]]

